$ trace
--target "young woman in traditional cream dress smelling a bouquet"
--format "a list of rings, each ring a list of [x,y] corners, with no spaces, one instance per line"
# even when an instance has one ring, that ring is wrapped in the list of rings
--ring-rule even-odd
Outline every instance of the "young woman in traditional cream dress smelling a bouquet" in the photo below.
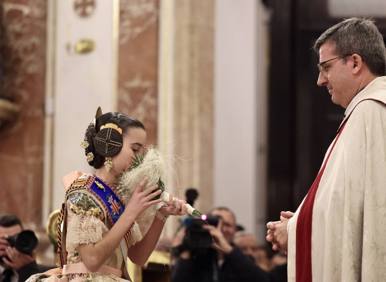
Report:
[[[146,131],[138,120],[122,113],[98,108],[95,121],[81,146],[96,174],[73,172],[63,179],[66,197],[59,216],[60,268],[32,275],[30,282],[130,281],[127,257],[142,266],[154,250],[169,215],[186,214],[185,201],[163,206],[142,238],[135,219],[161,199],[157,185],[142,192],[147,179],[135,189],[127,204],[117,193],[117,172],[126,170],[146,142]],[[119,175],[119,174],[118,174]],[[71,184],[72,183],[72,184]],[[152,200],[153,199],[153,200]]]

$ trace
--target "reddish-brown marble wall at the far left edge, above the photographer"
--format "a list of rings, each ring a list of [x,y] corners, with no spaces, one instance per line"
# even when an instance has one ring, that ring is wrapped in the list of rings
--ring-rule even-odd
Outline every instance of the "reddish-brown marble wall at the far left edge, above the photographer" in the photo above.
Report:
[[[0,94],[20,106],[16,120],[0,128],[0,213],[34,226],[42,205],[47,2],[3,0],[0,7]]]

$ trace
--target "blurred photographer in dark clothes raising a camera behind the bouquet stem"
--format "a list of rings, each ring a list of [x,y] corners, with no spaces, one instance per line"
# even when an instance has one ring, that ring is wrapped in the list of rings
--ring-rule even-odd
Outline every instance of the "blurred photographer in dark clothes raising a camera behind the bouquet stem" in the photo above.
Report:
[[[208,230],[209,248],[192,248],[182,228],[174,237],[173,248],[177,255],[172,270],[172,282],[266,282],[268,274],[259,268],[251,256],[244,255],[232,241],[236,232],[235,216],[228,208],[219,207],[211,215],[219,216],[217,226],[202,225]],[[189,237],[189,236],[187,236]],[[189,240],[188,240],[189,241]]]

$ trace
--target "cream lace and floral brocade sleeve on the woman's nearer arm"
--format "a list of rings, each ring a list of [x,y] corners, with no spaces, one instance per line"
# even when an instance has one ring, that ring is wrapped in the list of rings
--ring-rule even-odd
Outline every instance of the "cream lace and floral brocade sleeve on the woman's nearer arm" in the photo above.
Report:
[[[67,201],[68,226],[66,245],[97,243],[108,231],[102,222],[102,208],[92,196],[76,192]]]

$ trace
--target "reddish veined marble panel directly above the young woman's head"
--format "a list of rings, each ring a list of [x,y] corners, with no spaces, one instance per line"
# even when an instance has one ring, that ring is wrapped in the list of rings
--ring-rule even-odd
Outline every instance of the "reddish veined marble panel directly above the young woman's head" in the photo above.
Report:
[[[120,0],[118,111],[157,141],[158,0]]]

